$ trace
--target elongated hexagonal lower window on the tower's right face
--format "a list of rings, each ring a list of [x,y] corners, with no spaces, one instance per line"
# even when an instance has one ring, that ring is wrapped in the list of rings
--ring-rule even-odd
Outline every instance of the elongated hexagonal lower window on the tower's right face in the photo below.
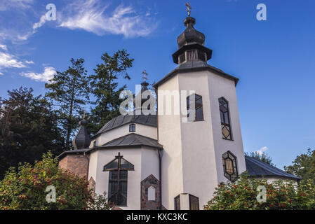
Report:
[[[235,155],[233,155],[230,151],[224,153],[222,155],[222,164],[224,176],[230,181],[235,181],[238,175]]]

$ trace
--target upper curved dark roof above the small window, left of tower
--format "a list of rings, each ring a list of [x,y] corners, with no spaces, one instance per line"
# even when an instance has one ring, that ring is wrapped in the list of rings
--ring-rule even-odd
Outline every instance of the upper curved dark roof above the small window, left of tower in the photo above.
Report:
[[[152,127],[157,127],[157,118],[156,115],[121,115],[112,120],[109,120],[99,131],[95,134],[96,137],[98,134],[103,132],[108,132],[116,127],[120,127],[122,125],[126,125],[128,123],[138,123],[141,125],[148,125]],[[93,138],[94,138],[93,137]]]

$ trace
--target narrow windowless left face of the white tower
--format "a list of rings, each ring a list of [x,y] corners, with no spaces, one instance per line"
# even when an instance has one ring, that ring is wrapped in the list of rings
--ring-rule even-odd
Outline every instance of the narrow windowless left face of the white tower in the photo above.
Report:
[[[159,86],[159,90],[178,90],[177,76]],[[158,109],[161,114],[161,96]],[[163,108],[166,107],[165,99]],[[166,209],[174,209],[174,197],[183,192],[182,176],[182,135],[180,115],[159,115],[159,144],[163,145],[162,157],[162,204]]]

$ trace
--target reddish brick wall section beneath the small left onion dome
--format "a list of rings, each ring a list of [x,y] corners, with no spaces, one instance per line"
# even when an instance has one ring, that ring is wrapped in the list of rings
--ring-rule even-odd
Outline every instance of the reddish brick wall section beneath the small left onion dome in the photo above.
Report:
[[[87,179],[88,155],[69,154],[59,161],[59,167]]]

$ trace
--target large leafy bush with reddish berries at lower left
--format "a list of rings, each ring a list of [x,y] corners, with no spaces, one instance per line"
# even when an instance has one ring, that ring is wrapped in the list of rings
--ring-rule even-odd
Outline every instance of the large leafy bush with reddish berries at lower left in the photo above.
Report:
[[[55,187],[55,202],[47,202]],[[51,197],[51,195],[48,195]],[[58,168],[58,160],[48,152],[34,167],[20,164],[8,170],[0,181],[0,209],[112,209],[103,195],[93,199],[86,179]]]

